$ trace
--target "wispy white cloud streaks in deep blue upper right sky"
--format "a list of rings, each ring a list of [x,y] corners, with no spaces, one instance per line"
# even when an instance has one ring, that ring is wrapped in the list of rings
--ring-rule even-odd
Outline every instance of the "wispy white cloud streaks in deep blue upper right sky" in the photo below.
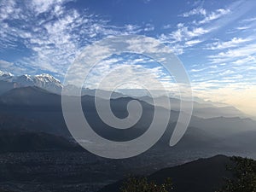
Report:
[[[183,17],[202,15],[203,20],[194,20],[187,24],[179,23],[177,24],[176,31],[172,31],[169,34],[160,34],[159,38],[162,42],[170,44],[172,47],[179,47],[182,51],[177,52],[183,53],[183,49],[204,42],[207,38],[210,38],[212,32],[217,31],[219,27],[224,26],[224,22],[221,24],[219,23],[222,16],[230,13],[230,9],[217,9],[209,14],[206,9],[192,9],[189,12],[184,13]],[[212,21],[211,24],[210,21]],[[225,22],[228,21],[229,20]],[[171,27],[172,25],[163,26],[164,29],[170,29]]]

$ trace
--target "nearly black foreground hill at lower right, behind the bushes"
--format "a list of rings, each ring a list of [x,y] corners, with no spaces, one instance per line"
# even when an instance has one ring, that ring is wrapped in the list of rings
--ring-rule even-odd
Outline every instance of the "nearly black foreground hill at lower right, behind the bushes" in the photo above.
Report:
[[[174,192],[215,192],[224,185],[224,177],[231,178],[232,173],[226,166],[232,166],[229,157],[217,155],[208,159],[195,160],[181,166],[162,169],[148,176],[148,180],[164,183],[167,177],[172,178]],[[125,182],[109,184],[99,192],[120,192]]]

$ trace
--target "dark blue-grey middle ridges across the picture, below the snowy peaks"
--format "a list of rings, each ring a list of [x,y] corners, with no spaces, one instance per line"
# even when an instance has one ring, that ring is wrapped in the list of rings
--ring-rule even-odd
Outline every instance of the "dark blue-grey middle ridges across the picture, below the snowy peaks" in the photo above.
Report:
[[[119,118],[127,116],[127,103],[131,97],[119,97],[110,101],[113,113]],[[143,100],[143,99],[142,99]],[[151,124],[154,106],[137,98],[143,107],[143,114],[136,125],[127,130],[115,129],[106,125],[99,117],[95,97],[84,95],[81,98],[84,116],[94,131],[114,141],[127,141],[142,135]],[[108,102],[102,98],[99,102]],[[166,113],[166,108],[160,113]],[[103,113],[108,113],[108,111]],[[168,148],[168,143],[177,123],[179,111],[171,111],[166,133],[158,143],[160,148]],[[164,116],[161,115],[160,116]],[[161,123],[160,123],[161,124]],[[20,87],[0,96],[0,130],[43,131],[57,136],[71,138],[61,110],[61,96],[38,87]],[[253,137],[256,135],[256,122],[241,117],[201,118],[192,115],[188,131],[175,148],[204,148],[214,150],[253,151]],[[239,143],[239,144],[237,144]],[[174,148],[174,149],[175,149]]]

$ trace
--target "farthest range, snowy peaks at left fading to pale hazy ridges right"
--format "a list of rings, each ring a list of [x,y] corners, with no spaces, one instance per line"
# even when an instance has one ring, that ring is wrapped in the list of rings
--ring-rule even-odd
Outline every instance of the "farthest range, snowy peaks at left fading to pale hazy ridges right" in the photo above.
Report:
[[[55,79],[55,77],[45,73],[34,75],[34,76],[27,75],[27,74],[15,76],[12,73],[4,73],[0,71],[0,96],[3,95],[3,97],[5,97],[6,99],[9,99],[7,97],[9,97],[10,94],[14,94],[14,93],[7,93],[9,90],[13,90],[15,88],[22,88],[22,87],[25,87],[24,89],[25,91],[26,91],[26,87],[38,87],[42,89],[40,91],[47,90],[51,93],[61,95],[61,90],[63,89],[64,85],[61,84],[61,81],[59,79]],[[33,88],[33,89],[36,89],[36,88]],[[73,92],[77,92],[78,89],[79,88],[73,84],[68,84],[65,86],[65,90],[68,90],[68,92],[71,94]],[[16,91],[19,92],[21,90],[16,90]],[[102,91],[101,96],[103,99],[104,99],[104,96],[108,96],[108,95],[111,95],[111,98],[113,99],[121,98],[121,97],[133,97],[133,98],[137,98],[140,101],[148,102],[148,104],[151,104],[151,105],[154,105],[154,100],[156,100],[157,103],[160,103],[158,107],[161,107],[161,108],[166,108],[166,106],[168,106],[165,103],[166,101],[165,96],[159,96],[157,98],[154,98],[154,100],[150,96],[143,96],[142,94],[141,94],[142,96],[136,96],[137,92],[142,91],[143,93],[144,92],[143,90],[129,90],[129,91],[127,90],[128,93],[129,92],[134,93],[135,94],[134,96],[126,95],[125,90],[123,90],[122,93],[116,92],[116,91],[109,92],[108,90],[101,90],[101,91]],[[26,93],[20,92],[20,96],[22,94],[26,94]],[[96,90],[83,88],[81,94],[82,96],[85,96],[85,95],[95,96]],[[179,111],[180,100],[175,97],[169,97],[168,99],[171,103],[171,107],[172,107],[171,109],[174,111]],[[19,100],[16,102],[19,102]],[[26,102],[31,102],[31,100],[28,100]],[[200,98],[196,98],[196,97],[194,99],[193,106],[194,106],[193,115],[200,118],[207,119],[207,118],[217,118],[217,117],[223,116],[223,117],[241,117],[241,118],[250,117],[254,119],[254,117],[251,117],[245,113],[242,113],[240,110],[232,106],[225,105],[224,103],[219,104],[211,101],[205,102]]]

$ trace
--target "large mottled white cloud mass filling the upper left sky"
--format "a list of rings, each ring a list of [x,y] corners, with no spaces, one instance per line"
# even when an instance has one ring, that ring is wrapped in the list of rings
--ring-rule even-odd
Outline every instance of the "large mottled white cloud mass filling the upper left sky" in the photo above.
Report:
[[[27,66],[27,73],[44,70],[63,75],[84,45],[109,35],[143,30],[134,25],[110,26],[108,20],[91,15],[87,10],[66,9],[65,3],[69,1],[1,3],[0,49],[15,47],[18,42],[24,44],[26,49],[32,50],[32,55],[19,60],[20,65]],[[40,14],[44,14],[44,19]],[[16,18],[20,24],[10,26],[9,21]],[[150,27],[154,26],[144,28],[151,30]]]

